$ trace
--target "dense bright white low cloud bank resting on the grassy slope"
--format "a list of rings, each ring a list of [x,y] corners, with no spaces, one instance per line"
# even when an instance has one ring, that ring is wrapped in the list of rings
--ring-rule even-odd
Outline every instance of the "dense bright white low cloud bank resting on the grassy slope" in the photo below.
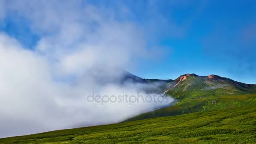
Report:
[[[5,34],[0,35],[1,137],[116,123],[172,101],[90,103],[86,96],[92,91],[101,96],[118,96],[123,92],[136,95],[143,85],[102,86],[88,75],[69,85],[52,79],[50,65],[44,56],[25,50]]]

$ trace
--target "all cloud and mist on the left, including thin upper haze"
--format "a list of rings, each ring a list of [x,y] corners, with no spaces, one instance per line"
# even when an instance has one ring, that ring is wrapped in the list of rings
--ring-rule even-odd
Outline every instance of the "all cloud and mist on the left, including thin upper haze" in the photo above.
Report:
[[[142,89],[160,85],[112,83],[123,75],[116,69],[135,69],[152,55],[141,28],[111,9],[83,1],[1,2],[0,19],[18,13],[40,40],[29,48],[0,33],[0,137],[118,123],[173,101],[88,101],[93,92],[147,96]]]

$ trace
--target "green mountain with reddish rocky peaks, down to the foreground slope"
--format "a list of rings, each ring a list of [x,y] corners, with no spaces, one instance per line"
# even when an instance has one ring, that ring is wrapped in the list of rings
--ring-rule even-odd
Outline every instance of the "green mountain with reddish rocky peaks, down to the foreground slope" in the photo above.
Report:
[[[166,84],[164,93],[175,98],[171,107],[147,112],[125,121],[256,104],[256,85],[240,83],[218,75],[181,75]]]

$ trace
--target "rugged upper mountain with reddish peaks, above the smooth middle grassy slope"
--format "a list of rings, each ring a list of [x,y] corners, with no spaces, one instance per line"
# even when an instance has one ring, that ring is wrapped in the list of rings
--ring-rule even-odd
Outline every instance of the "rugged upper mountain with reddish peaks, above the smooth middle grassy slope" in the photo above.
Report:
[[[185,74],[168,83],[165,93],[176,99],[256,93],[256,85],[218,75]]]

